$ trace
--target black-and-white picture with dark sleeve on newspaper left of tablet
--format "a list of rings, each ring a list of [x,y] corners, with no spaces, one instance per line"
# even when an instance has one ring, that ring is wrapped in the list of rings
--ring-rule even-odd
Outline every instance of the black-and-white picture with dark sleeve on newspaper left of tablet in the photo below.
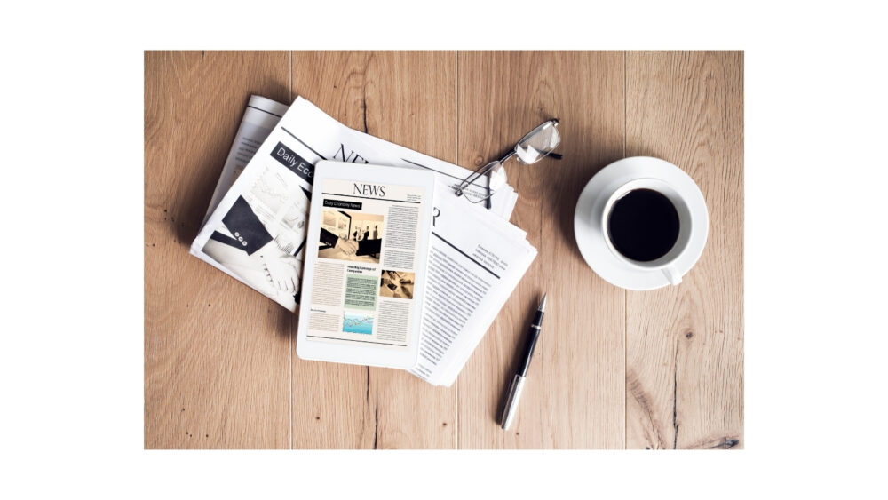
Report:
[[[295,310],[308,194],[266,169],[222,218],[203,252],[243,282]]]

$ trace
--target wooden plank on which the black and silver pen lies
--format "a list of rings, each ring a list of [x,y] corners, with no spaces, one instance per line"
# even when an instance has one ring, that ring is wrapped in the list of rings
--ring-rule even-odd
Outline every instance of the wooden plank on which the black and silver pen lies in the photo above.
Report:
[[[623,154],[620,52],[460,52],[459,160],[480,165],[551,117],[560,162],[507,163],[512,222],[539,250],[459,377],[460,448],[622,448],[624,292],[592,272],[573,220],[583,186]],[[518,417],[498,424],[516,353],[549,292]]]

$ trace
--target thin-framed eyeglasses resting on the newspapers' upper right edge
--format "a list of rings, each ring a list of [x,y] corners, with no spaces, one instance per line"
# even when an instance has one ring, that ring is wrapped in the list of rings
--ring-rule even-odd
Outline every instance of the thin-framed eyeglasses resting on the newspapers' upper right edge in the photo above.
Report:
[[[559,142],[561,142],[561,136],[558,133],[558,119],[552,118],[527,132],[527,135],[521,138],[518,144],[502,158],[484,165],[463,179],[463,182],[456,187],[456,195],[465,195],[465,199],[472,203],[487,201],[489,209],[490,197],[496,194],[497,189],[505,186],[506,175],[503,163],[506,160],[516,155],[519,162],[526,165],[539,162],[546,156],[560,160],[561,155],[552,153],[552,150],[558,147]],[[486,182],[482,180],[485,178]]]

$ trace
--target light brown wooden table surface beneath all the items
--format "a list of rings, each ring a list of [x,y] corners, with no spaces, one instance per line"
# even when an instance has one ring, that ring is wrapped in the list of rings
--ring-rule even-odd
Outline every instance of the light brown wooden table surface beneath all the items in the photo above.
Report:
[[[188,254],[251,93],[466,167],[561,120],[560,162],[509,163],[539,256],[456,384],[302,361],[297,317]],[[677,164],[710,236],[678,287],[586,266],[574,207],[625,156]],[[742,52],[147,52],[146,448],[742,448]],[[496,424],[531,308],[521,409]],[[123,332],[122,332],[123,333]]]

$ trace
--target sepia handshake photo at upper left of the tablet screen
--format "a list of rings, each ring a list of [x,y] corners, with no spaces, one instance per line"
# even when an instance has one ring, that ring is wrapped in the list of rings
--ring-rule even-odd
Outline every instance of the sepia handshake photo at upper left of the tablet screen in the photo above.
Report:
[[[378,264],[383,219],[381,215],[360,211],[324,209],[318,257]]]

